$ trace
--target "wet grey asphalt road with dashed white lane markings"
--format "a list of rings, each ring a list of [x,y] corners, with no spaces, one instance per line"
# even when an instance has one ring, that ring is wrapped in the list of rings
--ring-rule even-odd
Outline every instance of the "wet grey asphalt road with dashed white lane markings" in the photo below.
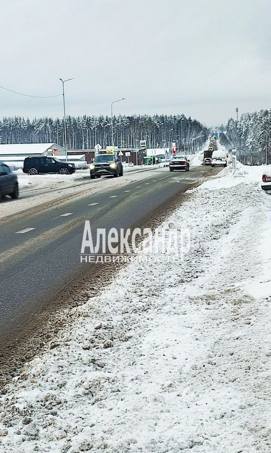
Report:
[[[112,191],[71,197],[52,209],[0,222],[0,339],[37,306],[46,305],[49,294],[61,294],[63,285],[78,278],[86,266],[91,279],[93,265],[80,264],[85,220],[90,220],[94,232],[142,226],[159,206],[170,204],[203,176],[215,173],[209,167],[173,173],[159,169]]]

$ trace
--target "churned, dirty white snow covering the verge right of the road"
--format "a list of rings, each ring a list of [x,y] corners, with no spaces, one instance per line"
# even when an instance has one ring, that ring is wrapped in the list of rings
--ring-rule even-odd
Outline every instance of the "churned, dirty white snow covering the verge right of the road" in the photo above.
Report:
[[[129,264],[63,313],[2,391],[0,451],[270,451],[271,197],[258,169],[238,172],[162,225],[190,229],[183,262]]]

